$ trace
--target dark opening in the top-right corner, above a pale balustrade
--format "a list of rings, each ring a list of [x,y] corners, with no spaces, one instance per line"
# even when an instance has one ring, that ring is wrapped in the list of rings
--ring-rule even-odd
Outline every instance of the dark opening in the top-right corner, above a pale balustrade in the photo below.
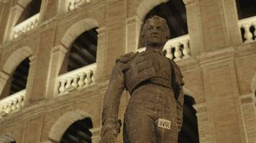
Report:
[[[255,0],[236,0],[237,12],[239,19],[245,19],[251,16],[256,16],[256,1]]]

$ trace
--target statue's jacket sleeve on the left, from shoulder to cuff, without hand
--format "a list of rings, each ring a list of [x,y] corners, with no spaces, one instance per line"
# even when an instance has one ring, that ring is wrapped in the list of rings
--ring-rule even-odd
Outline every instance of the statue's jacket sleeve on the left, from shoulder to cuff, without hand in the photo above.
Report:
[[[102,124],[106,119],[117,121],[120,98],[124,91],[124,66],[124,63],[117,61],[112,71],[109,87],[104,97]]]

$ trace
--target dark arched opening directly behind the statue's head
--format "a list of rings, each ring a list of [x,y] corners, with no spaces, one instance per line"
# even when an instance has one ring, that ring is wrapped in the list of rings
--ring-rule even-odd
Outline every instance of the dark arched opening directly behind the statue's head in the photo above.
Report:
[[[170,39],[188,34],[186,7],[182,0],[169,0],[163,4],[155,6],[146,14],[145,18],[143,19],[144,23],[148,18],[154,15],[166,19],[170,30]],[[143,46],[141,41],[142,40],[140,37],[140,45],[138,48],[142,48]]]

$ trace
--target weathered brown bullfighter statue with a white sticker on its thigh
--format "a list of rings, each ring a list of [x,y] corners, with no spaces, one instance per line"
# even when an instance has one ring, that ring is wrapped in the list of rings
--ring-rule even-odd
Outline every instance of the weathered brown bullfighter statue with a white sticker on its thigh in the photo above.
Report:
[[[101,142],[115,142],[120,132],[120,97],[131,98],[124,115],[124,143],[177,143],[183,122],[183,79],[179,67],[163,54],[169,38],[165,19],[145,21],[142,39],[146,50],[116,60],[104,98]]]

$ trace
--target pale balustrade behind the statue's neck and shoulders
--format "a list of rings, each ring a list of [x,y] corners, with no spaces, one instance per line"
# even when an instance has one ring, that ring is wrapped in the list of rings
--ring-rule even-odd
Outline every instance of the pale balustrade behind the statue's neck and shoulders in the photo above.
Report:
[[[145,51],[145,47],[137,51]],[[163,47],[163,51],[166,57],[175,61],[190,57],[189,35],[178,36],[177,38],[168,40]]]

